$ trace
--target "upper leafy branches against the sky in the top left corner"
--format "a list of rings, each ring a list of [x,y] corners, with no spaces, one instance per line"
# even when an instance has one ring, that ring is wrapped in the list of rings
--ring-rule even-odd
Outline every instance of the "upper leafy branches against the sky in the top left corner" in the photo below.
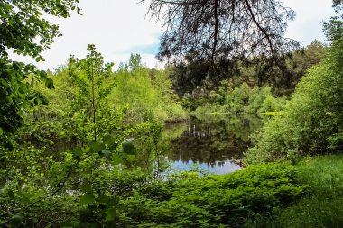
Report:
[[[59,26],[49,23],[42,14],[67,18],[77,10],[79,0],[5,0],[0,3],[0,57],[7,49],[17,54],[43,60],[40,55],[60,36]]]

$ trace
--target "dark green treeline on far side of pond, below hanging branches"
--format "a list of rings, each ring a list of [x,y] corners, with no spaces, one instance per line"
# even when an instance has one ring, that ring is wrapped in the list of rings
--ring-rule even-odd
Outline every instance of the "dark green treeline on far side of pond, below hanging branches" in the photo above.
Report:
[[[195,110],[207,103],[218,103],[213,96],[222,94],[224,86],[226,90],[233,90],[243,83],[249,87],[271,87],[275,97],[289,96],[306,71],[320,63],[326,49],[320,41],[313,41],[307,47],[283,56],[278,64],[272,59],[255,57],[230,59],[214,67],[209,60],[193,61],[189,57],[167,69],[172,88],[183,97],[183,105]]]

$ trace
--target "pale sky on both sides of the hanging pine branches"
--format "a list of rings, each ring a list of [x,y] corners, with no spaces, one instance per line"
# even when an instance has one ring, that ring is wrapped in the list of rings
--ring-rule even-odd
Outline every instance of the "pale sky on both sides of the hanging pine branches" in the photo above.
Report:
[[[296,12],[289,23],[286,37],[308,45],[314,39],[324,41],[321,22],[334,15],[332,0],[282,0]],[[68,19],[51,18],[60,25],[62,37],[56,38],[50,50],[45,50],[44,62],[11,55],[12,59],[34,63],[42,69],[54,69],[64,64],[70,54],[82,59],[88,44],[95,44],[105,61],[114,62],[115,68],[125,62],[131,53],[139,53],[144,64],[161,68],[155,59],[158,52],[162,24],[146,15],[148,5],[139,0],[80,0],[83,15],[72,14]]]

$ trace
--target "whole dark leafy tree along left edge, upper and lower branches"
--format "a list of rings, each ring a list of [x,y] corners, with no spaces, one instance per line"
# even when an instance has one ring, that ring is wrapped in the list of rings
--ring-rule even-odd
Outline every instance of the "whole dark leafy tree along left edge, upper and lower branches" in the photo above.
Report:
[[[46,72],[34,65],[25,66],[8,59],[8,49],[31,56],[36,61],[44,60],[42,51],[50,47],[60,32],[59,27],[43,19],[42,14],[67,18],[73,10],[80,14],[78,3],[78,0],[0,2],[0,137],[5,141],[22,125],[27,106],[43,100],[42,95],[34,92],[29,82],[25,81],[27,76],[33,74],[47,87],[53,87]]]

